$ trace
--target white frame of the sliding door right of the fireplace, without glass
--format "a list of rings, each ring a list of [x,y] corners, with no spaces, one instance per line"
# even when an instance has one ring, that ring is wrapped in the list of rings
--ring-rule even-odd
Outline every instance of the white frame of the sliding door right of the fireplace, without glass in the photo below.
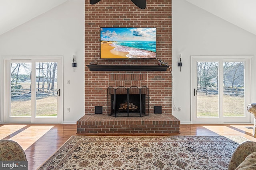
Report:
[[[252,55],[191,55],[191,123],[196,124],[196,123],[252,123],[252,115],[246,110],[246,107],[244,107],[246,118],[243,119],[242,121],[237,121],[236,119],[230,119],[223,117],[222,111],[220,111],[220,118],[197,118],[196,116],[196,97],[194,96],[194,88],[196,88],[197,84],[197,79],[195,78],[196,75],[196,62],[197,61],[206,61],[206,62],[216,62],[216,61],[221,61],[221,63],[226,62],[226,61],[244,61],[245,62],[245,106],[246,104],[251,103],[251,61],[252,61]],[[223,74],[223,68],[220,67],[219,69],[219,74]],[[219,82],[223,82],[222,76],[219,76],[221,80]],[[221,83],[219,83],[221,84]],[[222,94],[223,94],[223,86],[219,86],[219,109],[222,109]],[[209,121],[210,119],[210,121]],[[231,120],[231,121],[230,121]]]

